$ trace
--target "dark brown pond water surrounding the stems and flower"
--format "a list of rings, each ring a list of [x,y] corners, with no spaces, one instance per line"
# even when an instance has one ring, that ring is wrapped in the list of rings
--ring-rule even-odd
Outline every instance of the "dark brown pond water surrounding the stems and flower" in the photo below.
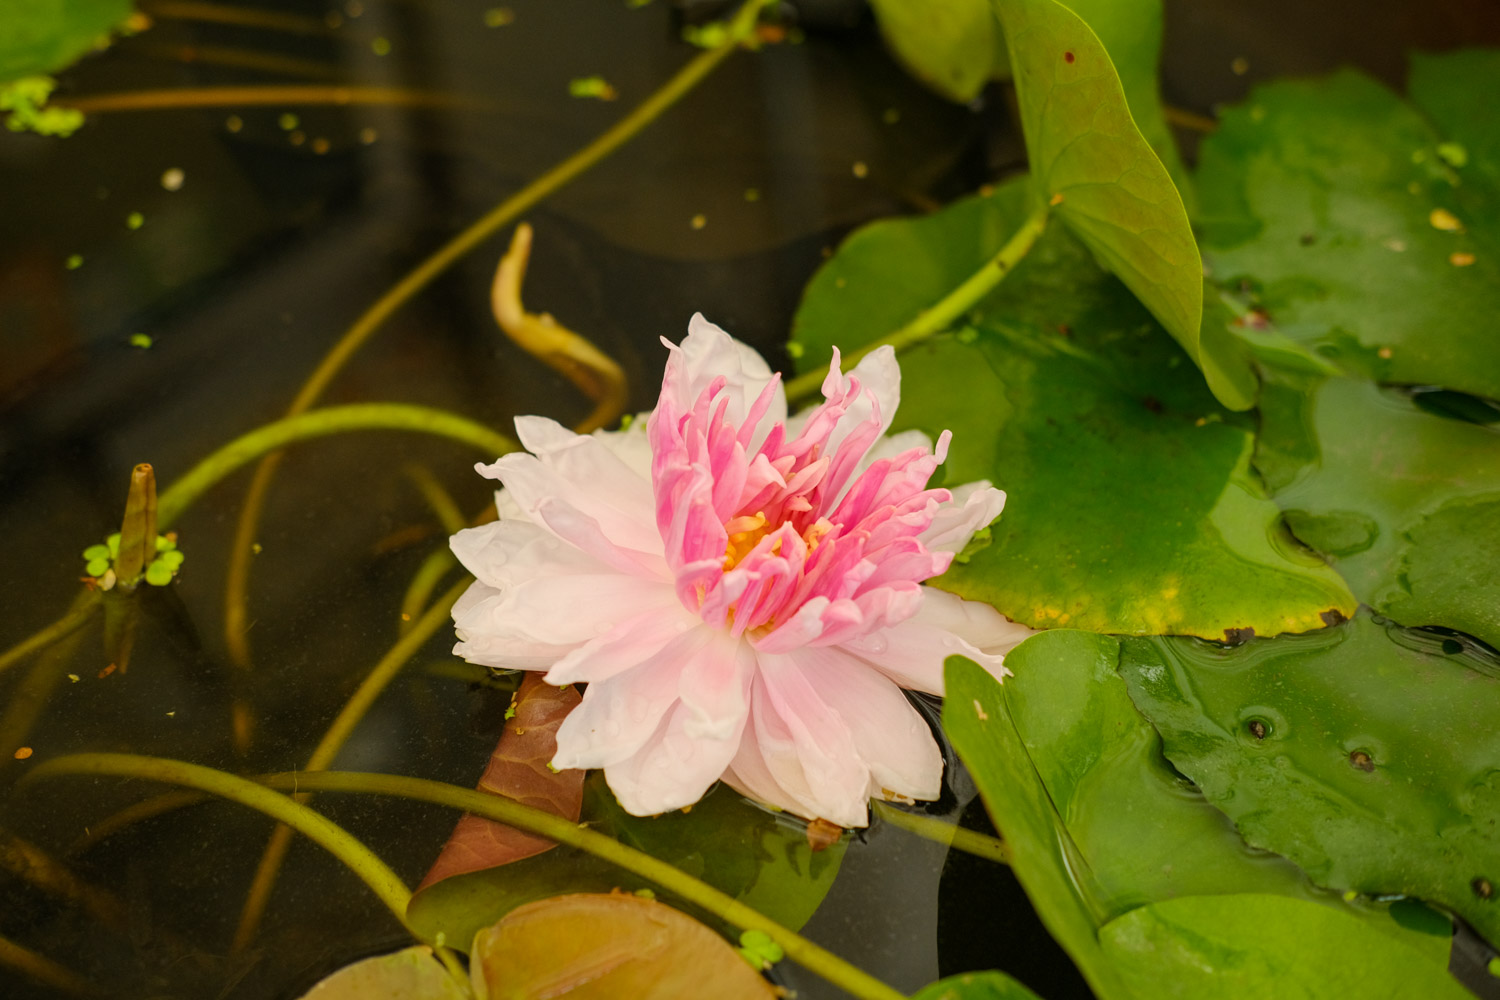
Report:
[[[117,529],[135,463],[170,483],[279,417],[381,292],[696,52],[668,0],[512,0],[513,21],[498,27],[486,25],[498,6],[489,0],[141,6],[154,27],[68,72],[64,94],[351,84],[446,103],[228,100],[100,112],[66,141],[0,135],[0,646],[72,601],[78,553]],[[792,6],[804,40],[732,57],[526,214],[537,228],[528,304],[620,358],[634,408],[654,400],[657,337],[680,337],[693,312],[784,363],[800,289],[844,232],[1022,163],[1004,91],[972,108],[944,103],[891,63],[858,4]],[[1167,7],[1166,94],[1196,114],[1258,78],[1353,61],[1398,82],[1410,46],[1500,40],[1500,12],[1484,0]],[[568,96],[570,79],[592,75],[620,99]],[[502,237],[484,243],[396,313],[326,402],[418,402],[494,427],[516,414],[586,414],[561,376],[495,328],[489,282],[502,249]],[[152,346],[134,346],[134,334]],[[108,658],[93,628],[51,682],[28,664],[0,675],[4,834],[69,855],[92,825],[154,792],[112,778],[12,790],[28,765],[63,753],[240,772],[304,762],[394,640],[412,573],[444,544],[410,469],[477,511],[488,489],[474,459],[399,433],[291,451],[256,537],[249,673],[230,666],[222,634],[248,474],[212,490],[177,525],[188,562],[177,586],[152,595],[128,673],[99,676]],[[442,634],[423,649],[338,766],[476,781],[506,696],[456,675],[448,645]],[[244,753],[231,739],[236,697],[254,709]],[[27,762],[12,759],[21,745],[34,751]],[[968,781],[952,786],[933,808],[984,828],[982,811],[966,807]],[[411,883],[453,823],[393,799],[328,796],[320,808]],[[114,927],[0,873],[0,936],[117,996],[236,1000],[298,996],[339,964],[405,942],[358,882],[298,843],[256,948],[228,958],[268,831],[240,807],[200,804],[70,855],[123,906]],[[850,846],[807,934],[903,990],[1002,967],[1054,1000],[1088,996],[1005,870],[879,825]],[[838,996],[795,969],[788,985],[810,1000]],[[0,993],[54,996],[8,972]]]

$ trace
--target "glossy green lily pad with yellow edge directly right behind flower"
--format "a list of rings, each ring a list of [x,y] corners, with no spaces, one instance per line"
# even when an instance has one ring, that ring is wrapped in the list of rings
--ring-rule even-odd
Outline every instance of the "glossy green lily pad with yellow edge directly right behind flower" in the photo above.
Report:
[[[1012,183],[855,232],[807,286],[802,363],[890,330],[1023,214]],[[902,355],[897,427],[951,429],[946,481],[1010,493],[994,543],[940,586],[1028,625],[1108,633],[1220,639],[1353,613],[1338,574],[1287,540],[1250,432],[1066,231],[1044,234],[970,318]]]

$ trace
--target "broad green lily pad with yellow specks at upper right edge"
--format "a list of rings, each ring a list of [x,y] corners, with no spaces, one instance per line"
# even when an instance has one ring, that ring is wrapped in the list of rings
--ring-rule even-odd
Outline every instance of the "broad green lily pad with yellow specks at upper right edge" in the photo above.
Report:
[[[1419,69],[1413,96],[1448,132],[1353,70],[1258,87],[1226,112],[1200,154],[1204,253],[1215,280],[1248,283],[1282,334],[1348,372],[1500,396],[1500,153],[1485,129],[1500,58]]]

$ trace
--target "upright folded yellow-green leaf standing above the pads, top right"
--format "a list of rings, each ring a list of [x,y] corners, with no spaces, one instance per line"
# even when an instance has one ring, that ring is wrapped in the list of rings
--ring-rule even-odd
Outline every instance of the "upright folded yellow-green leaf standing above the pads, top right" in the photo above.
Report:
[[[1182,195],[1131,118],[1104,43],[1056,0],[993,0],[1005,30],[1034,199],[1053,211],[1161,321],[1224,405],[1254,376],[1227,339],[1200,340],[1203,267]]]

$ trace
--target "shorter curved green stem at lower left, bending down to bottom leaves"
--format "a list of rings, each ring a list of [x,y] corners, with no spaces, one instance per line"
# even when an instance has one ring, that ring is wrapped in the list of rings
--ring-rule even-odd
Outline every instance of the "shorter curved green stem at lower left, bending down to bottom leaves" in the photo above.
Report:
[[[22,778],[22,784],[64,774],[144,778],[147,781],[198,789],[200,792],[248,805],[285,823],[342,861],[396,915],[402,927],[406,925],[406,904],[411,901],[411,891],[406,889],[400,877],[384,861],[376,858],[369,847],[357,841],[333,820],[314,813],[306,805],[294,802],[279,792],[273,792],[264,784],[184,760],[142,757],[136,754],[72,754],[54,757],[33,768]],[[286,775],[286,783],[291,784],[294,778],[296,775]]]

